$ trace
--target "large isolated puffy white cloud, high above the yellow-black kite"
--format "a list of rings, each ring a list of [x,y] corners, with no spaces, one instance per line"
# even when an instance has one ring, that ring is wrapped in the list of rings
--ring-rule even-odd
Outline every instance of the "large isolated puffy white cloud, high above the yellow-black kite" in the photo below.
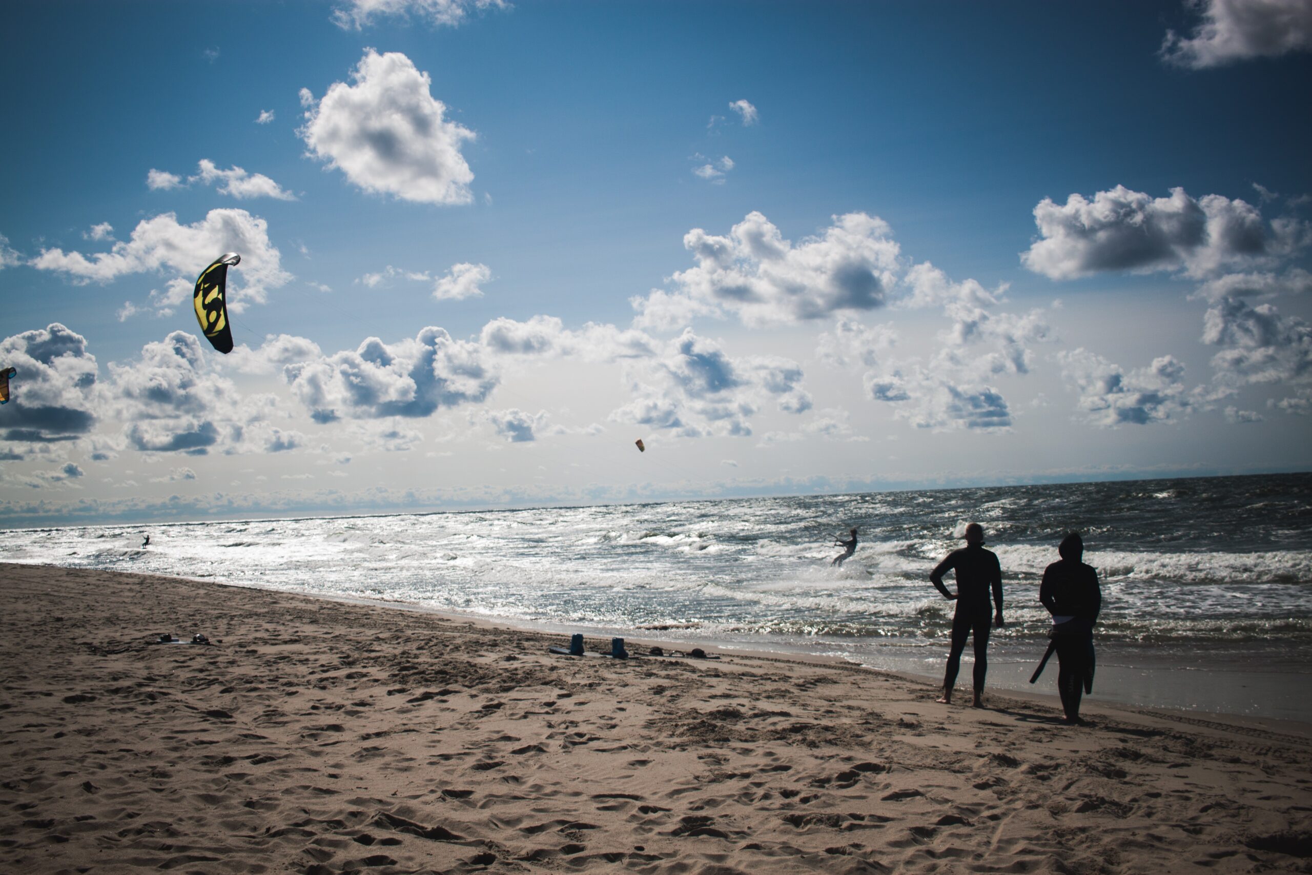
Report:
[[[474,172],[461,153],[474,131],[445,119],[432,80],[400,52],[373,49],[352,71],[353,85],[333,83],[323,100],[300,91],[307,108],[298,130],[308,153],[341,171],[365,192],[403,201],[470,203]]]

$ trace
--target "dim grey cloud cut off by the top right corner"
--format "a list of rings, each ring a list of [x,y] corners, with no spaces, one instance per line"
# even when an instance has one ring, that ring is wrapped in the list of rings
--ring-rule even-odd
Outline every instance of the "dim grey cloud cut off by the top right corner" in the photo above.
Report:
[[[1312,49],[1312,0],[1186,0],[1200,21],[1189,34],[1168,30],[1162,60],[1187,70],[1278,58]]]

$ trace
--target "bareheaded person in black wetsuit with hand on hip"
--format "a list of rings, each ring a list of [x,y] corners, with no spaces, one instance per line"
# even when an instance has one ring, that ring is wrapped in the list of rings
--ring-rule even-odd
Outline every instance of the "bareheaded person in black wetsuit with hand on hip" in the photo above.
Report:
[[[943,575],[950,568],[956,569],[956,592],[947,592],[943,585]],[[943,673],[943,698],[938,699],[943,704],[953,703],[953,686],[956,683],[956,672],[962,666],[962,651],[966,649],[966,639],[975,636],[975,701],[976,708],[984,707],[981,699],[984,694],[984,677],[988,674],[988,632],[992,623],[998,628],[1002,623],[1002,567],[998,565],[997,555],[991,550],[984,550],[984,529],[972,522],[966,526],[966,546],[947,554],[947,559],[938,563],[929,573],[938,592],[943,598],[956,601],[956,611],[953,615],[953,649],[947,655],[947,670]],[[989,603],[989,590],[993,594],[993,603]],[[996,607],[997,613],[993,613]]]

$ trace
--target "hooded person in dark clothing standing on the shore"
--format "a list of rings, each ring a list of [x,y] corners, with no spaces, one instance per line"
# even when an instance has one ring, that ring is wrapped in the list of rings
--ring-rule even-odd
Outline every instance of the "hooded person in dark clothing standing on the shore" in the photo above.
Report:
[[[1065,722],[1081,724],[1080,698],[1093,691],[1093,626],[1102,610],[1098,572],[1084,564],[1084,539],[1072,531],[1057,547],[1061,555],[1043,571],[1039,601],[1052,614],[1052,644],[1057,653],[1057,693]]]

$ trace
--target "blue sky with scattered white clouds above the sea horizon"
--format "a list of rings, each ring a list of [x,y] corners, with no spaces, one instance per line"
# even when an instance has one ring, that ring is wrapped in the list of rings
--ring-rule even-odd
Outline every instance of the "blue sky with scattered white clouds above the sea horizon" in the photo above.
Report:
[[[20,4],[0,525],[1305,470],[1309,45],[1308,0]]]

